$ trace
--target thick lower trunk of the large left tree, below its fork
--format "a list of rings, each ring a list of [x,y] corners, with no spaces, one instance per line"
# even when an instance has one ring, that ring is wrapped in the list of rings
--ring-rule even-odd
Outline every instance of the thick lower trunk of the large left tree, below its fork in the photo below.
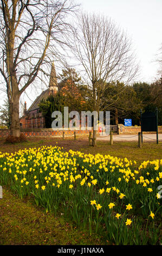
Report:
[[[20,120],[19,120],[19,96],[15,95],[13,97],[13,102],[11,102],[11,136],[20,137]]]

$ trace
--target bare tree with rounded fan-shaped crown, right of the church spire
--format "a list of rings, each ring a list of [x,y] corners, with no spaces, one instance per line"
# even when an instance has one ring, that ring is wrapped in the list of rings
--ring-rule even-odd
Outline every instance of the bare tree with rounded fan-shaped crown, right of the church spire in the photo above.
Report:
[[[128,84],[137,75],[132,42],[115,22],[102,15],[82,13],[73,29],[73,53],[93,89],[93,110],[100,111],[102,95],[113,81]],[[93,129],[93,145],[96,131]]]

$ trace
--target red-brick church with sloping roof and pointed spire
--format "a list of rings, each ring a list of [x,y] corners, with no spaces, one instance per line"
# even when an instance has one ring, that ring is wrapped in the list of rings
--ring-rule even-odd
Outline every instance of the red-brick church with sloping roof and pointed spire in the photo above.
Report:
[[[47,90],[44,90],[33,102],[33,104],[27,110],[27,103],[24,103],[24,114],[20,118],[20,126],[22,129],[32,129],[32,128],[44,128],[45,120],[40,112],[39,103],[42,99],[47,99],[49,95],[56,95],[58,92],[58,83],[56,77],[56,70],[54,62],[51,66],[49,87]]]

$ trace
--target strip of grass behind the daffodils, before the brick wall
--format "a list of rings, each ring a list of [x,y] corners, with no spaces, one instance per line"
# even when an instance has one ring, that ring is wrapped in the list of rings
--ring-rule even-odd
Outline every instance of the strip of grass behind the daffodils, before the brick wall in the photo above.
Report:
[[[58,145],[65,150],[72,149],[74,151],[81,151],[86,154],[103,154],[119,157],[128,160],[137,161],[141,163],[147,160],[161,159],[162,156],[162,142],[156,144],[156,142],[144,142],[142,148],[138,148],[138,142],[113,142],[110,145],[109,142],[97,142],[97,147],[89,146],[88,138],[77,138],[74,141],[73,138],[28,138],[27,142],[17,143],[14,145],[4,144],[4,139],[0,139],[0,151],[2,152],[15,152],[24,148],[38,148],[43,145]]]

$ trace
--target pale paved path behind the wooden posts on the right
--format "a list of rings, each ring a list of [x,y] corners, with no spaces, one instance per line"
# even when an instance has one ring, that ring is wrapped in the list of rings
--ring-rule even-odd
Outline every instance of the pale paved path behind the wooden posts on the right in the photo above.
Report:
[[[159,137],[159,142],[162,141],[162,134],[158,135]],[[143,134],[143,141],[154,141],[156,142],[157,140],[157,135],[156,134]],[[109,136],[98,136],[97,141],[109,141]],[[138,135],[135,134],[120,134],[120,135],[113,135],[113,141],[138,141]]]

